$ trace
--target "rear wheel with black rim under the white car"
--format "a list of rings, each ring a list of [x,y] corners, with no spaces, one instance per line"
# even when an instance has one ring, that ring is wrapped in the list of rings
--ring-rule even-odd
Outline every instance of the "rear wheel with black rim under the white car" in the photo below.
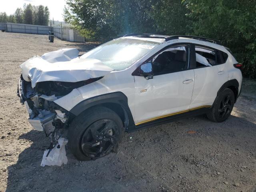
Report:
[[[206,114],[208,119],[214,122],[225,121],[232,112],[234,102],[234,92],[229,88],[225,88],[222,93],[217,96],[210,112]]]

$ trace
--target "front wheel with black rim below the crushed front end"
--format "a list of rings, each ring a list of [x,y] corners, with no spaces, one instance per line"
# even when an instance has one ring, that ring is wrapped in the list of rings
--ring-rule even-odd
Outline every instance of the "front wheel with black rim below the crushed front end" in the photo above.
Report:
[[[68,144],[76,159],[96,160],[116,152],[123,133],[118,114],[106,107],[95,107],[74,118],[68,129]]]

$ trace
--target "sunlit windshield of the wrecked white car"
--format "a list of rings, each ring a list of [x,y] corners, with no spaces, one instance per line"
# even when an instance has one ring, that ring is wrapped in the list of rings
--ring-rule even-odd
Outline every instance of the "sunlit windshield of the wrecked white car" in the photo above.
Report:
[[[159,44],[159,42],[119,38],[98,46],[81,58],[98,59],[114,70],[124,70]]]

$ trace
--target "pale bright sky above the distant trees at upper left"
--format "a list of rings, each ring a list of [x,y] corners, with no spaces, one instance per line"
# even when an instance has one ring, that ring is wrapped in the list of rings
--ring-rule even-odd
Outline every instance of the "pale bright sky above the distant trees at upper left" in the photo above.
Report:
[[[63,21],[63,9],[66,5],[65,0],[0,0],[0,12],[6,12],[6,14],[14,14],[15,10],[20,7],[23,8],[23,4],[43,5],[48,6],[50,10],[50,19]]]

